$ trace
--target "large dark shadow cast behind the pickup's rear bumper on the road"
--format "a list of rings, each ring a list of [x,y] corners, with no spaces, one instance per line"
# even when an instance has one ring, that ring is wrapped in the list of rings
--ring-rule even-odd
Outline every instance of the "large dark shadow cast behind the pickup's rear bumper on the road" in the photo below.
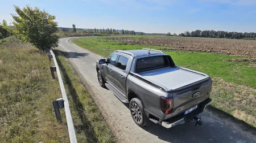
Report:
[[[164,128],[158,124],[143,127],[160,140],[167,142],[253,142],[249,137],[243,136],[239,130],[215,118],[209,112],[200,114],[202,125],[195,127],[195,122],[180,124],[172,128]],[[253,130],[252,130],[253,131]]]

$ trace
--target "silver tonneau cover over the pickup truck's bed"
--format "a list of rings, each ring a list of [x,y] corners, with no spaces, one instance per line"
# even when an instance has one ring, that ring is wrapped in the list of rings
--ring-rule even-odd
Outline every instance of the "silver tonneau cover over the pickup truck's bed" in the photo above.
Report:
[[[144,79],[152,81],[168,90],[175,90],[182,86],[195,83],[196,81],[207,79],[207,75],[195,72],[185,68],[160,68],[158,70],[138,73]]]

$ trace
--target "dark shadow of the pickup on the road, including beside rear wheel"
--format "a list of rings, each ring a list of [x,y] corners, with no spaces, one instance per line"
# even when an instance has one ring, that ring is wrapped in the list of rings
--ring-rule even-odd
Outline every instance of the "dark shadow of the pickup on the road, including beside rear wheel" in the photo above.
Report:
[[[129,103],[123,103],[129,109]],[[148,120],[148,125],[142,127],[144,131],[158,136],[160,140],[167,142],[253,142],[252,138],[243,136],[239,133],[242,131],[249,131],[252,135],[256,135],[256,128],[234,118],[213,106],[208,106],[207,110],[200,115],[203,125],[197,125],[195,122],[187,122],[177,125],[172,128],[164,128],[159,124],[155,124]],[[217,117],[217,118],[216,118]],[[236,124],[238,130],[229,127],[229,125],[222,122],[221,119],[228,120]],[[256,140],[253,139],[254,141]]]

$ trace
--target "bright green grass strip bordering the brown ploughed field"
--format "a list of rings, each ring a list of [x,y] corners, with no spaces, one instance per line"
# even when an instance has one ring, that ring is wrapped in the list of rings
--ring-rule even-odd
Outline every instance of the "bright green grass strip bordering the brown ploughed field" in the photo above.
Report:
[[[137,38],[141,37],[137,36]],[[104,57],[107,57],[115,50],[163,48],[162,46],[143,46],[113,42],[106,37],[75,38],[72,42]],[[228,82],[256,88],[256,67],[250,67],[250,63],[246,62],[228,62],[229,59],[244,57],[196,51],[171,51],[165,53],[171,55],[177,66],[191,68],[192,70],[207,73],[212,77],[220,77]]]

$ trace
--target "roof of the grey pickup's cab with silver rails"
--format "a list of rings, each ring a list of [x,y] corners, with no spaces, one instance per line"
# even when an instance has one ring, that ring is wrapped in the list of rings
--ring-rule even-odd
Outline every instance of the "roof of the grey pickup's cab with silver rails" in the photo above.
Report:
[[[142,50],[117,50],[115,52],[118,52],[118,53],[123,53],[123,54],[128,54],[128,55],[131,55],[133,57],[140,57],[140,56],[144,56],[144,55],[148,55],[148,51],[150,49],[142,49]],[[151,49],[150,50],[150,55],[155,55],[155,54],[163,54],[162,51],[160,50],[154,50],[154,49]]]

